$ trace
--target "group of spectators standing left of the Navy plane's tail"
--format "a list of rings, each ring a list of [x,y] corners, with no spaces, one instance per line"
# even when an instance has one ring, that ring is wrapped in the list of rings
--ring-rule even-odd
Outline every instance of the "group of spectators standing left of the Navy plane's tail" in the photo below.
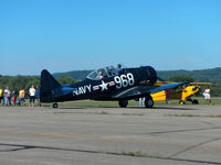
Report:
[[[32,85],[29,89],[29,107],[34,107],[36,100],[36,106],[41,107],[40,102],[40,88]],[[1,106],[25,106],[25,90],[20,88],[19,91],[10,90],[9,87],[2,89],[0,87],[0,105]]]

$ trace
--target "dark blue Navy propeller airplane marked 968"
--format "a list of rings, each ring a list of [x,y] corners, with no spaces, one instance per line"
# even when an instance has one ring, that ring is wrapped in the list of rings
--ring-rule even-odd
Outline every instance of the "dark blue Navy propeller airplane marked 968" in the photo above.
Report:
[[[40,101],[57,102],[71,100],[118,101],[119,107],[126,108],[128,100],[145,97],[145,107],[152,108],[151,92],[176,88],[187,82],[155,85],[157,73],[151,66],[134,68],[104,67],[92,72],[82,81],[71,85],[60,85],[46,70],[41,72]]]

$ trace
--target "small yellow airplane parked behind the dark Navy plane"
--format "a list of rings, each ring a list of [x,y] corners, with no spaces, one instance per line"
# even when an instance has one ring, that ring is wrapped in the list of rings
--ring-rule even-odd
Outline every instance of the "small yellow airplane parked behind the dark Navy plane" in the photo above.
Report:
[[[156,85],[164,84],[175,84],[173,81],[157,81]],[[185,105],[186,101],[190,101],[193,105],[198,105],[197,99],[191,99],[191,97],[200,91],[200,86],[210,86],[211,82],[190,82],[186,86],[180,86],[175,89],[162,90],[156,94],[152,94],[154,101],[167,101],[167,99],[178,99],[180,105]]]

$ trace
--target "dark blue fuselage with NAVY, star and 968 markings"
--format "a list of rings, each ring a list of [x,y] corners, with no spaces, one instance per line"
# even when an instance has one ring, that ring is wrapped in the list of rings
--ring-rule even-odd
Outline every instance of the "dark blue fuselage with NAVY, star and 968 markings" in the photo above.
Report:
[[[112,96],[136,86],[152,86],[156,80],[157,73],[150,66],[124,68],[118,74],[107,74],[98,79],[87,77],[82,81],[54,88],[41,101],[117,100]]]

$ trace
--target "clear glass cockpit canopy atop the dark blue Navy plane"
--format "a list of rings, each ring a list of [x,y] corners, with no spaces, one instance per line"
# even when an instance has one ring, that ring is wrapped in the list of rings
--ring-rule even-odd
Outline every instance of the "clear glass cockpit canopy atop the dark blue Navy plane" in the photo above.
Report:
[[[123,67],[119,64],[117,65],[117,67],[114,67],[114,66],[104,67],[104,68],[90,73],[87,78],[98,80],[104,77],[112,77],[112,76],[118,75],[122,72],[122,69]]]

